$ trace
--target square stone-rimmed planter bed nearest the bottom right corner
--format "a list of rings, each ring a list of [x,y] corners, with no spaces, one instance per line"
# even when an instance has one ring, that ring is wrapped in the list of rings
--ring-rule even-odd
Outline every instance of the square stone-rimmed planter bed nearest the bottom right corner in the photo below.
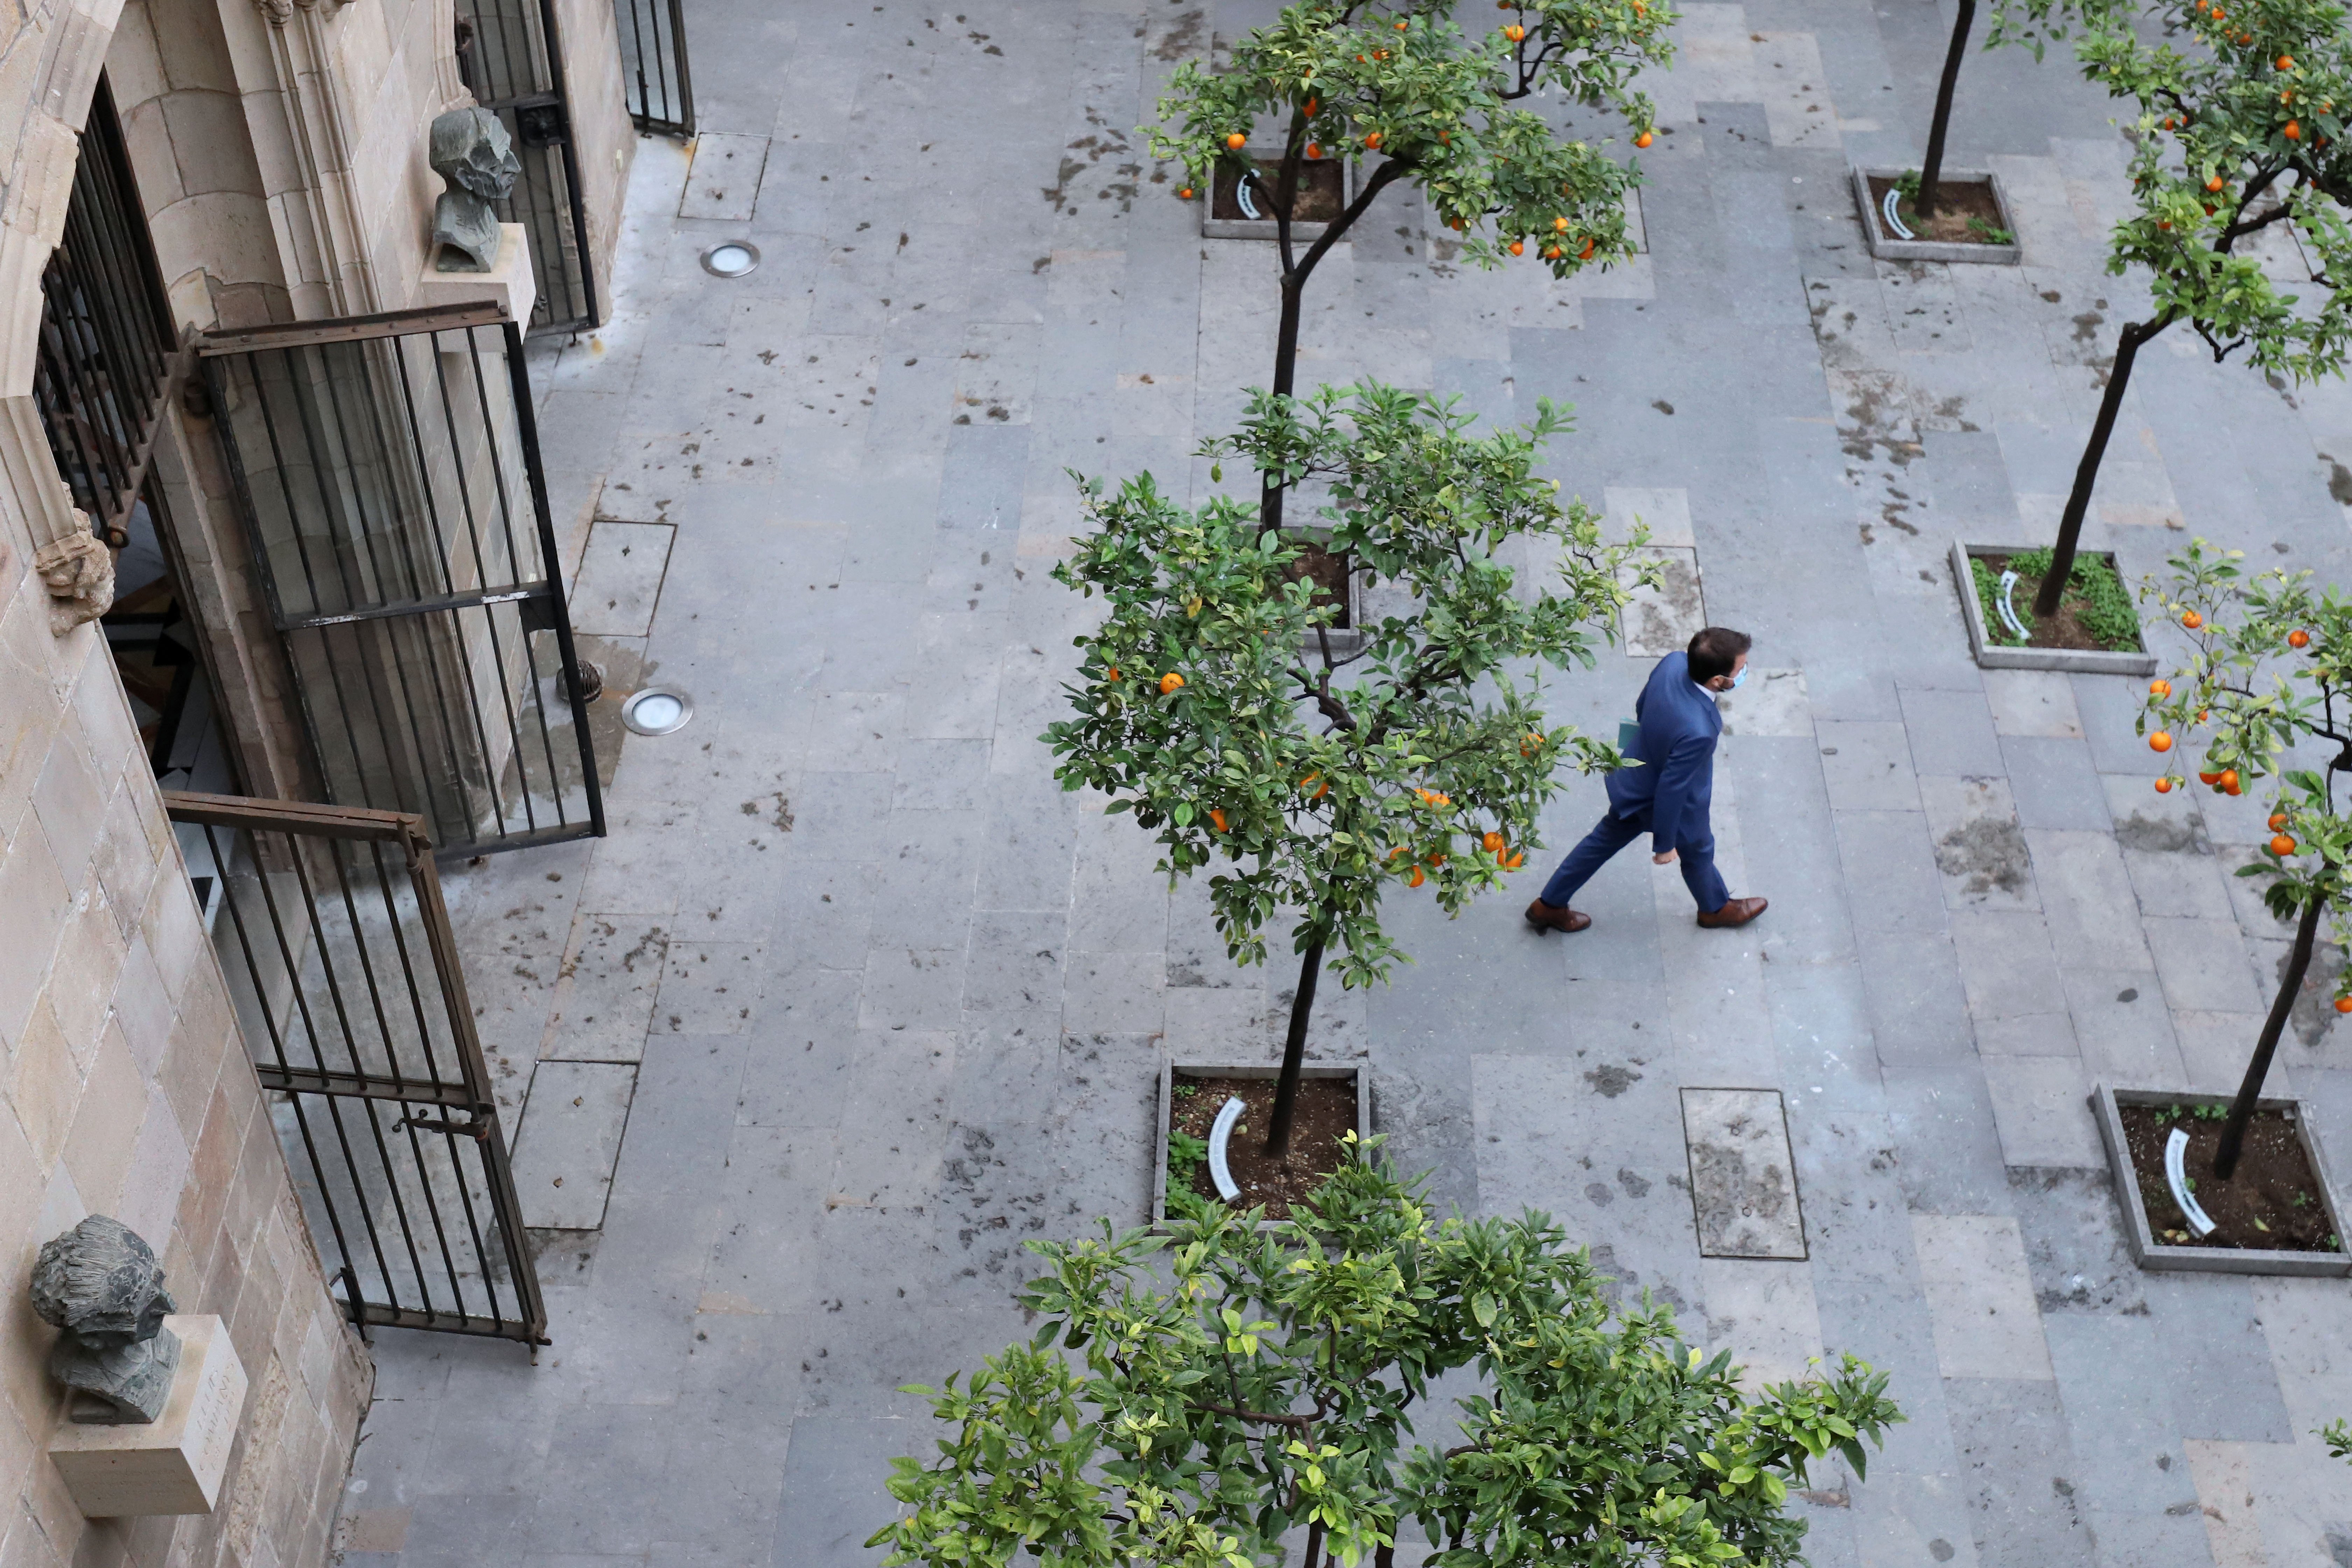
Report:
[[[2324,1279],[2352,1274],[2352,1255],[2343,1251],[2345,1229],[2343,1211],[2336,1204],[2336,1182],[2328,1180],[2326,1161],[2319,1157],[2319,1140],[2312,1138],[2312,1119],[2305,1114],[2300,1100],[2256,1100],[2256,1119],[2246,1128],[2244,1154],[2239,1154],[2237,1178],[2230,1187],[2239,1190],[2249,1185],[2246,1199],[2234,1199],[2244,1206],[2244,1213],[2267,1208],[2272,1220],[2277,1220],[2270,1229],[2288,1232],[2300,1225],[2321,1239],[2317,1248],[2312,1244],[2298,1248],[2244,1246],[2241,1237],[2258,1239],[2265,1232],[2244,1225],[2239,1211],[2216,1213],[2213,1218],[2220,1220],[2220,1229],[2211,1239],[2194,1239],[2164,1175],[2161,1145],[2154,1143],[2157,1133],[2150,1124],[2150,1112],[2164,1107],[2194,1112],[2197,1107],[2227,1105],[2230,1095],[2197,1095],[2169,1088],[2107,1088],[2100,1084],[2091,1091],[2091,1114],[2098,1119],[2100,1143],[2107,1145],[2107,1173],[2114,1178],[2114,1197],[2124,1208],[2124,1241],[2131,1244],[2131,1255],[2143,1269],[2180,1269],[2190,1274],[2307,1274]],[[2169,1126],[2190,1128],[2192,1138],[2220,1135],[2220,1121],[2180,1117]],[[2164,1135],[2169,1138],[2169,1131]],[[2133,1143],[2140,1145],[2138,1159],[2133,1157]],[[2303,1171],[2293,1166],[2296,1152],[2303,1154]],[[2192,1175],[2197,1159],[2197,1154],[2190,1157]],[[2204,1154],[2204,1159],[2211,1159],[2211,1154]],[[2265,1194],[2281,1190],[2303,1192],[2305,1201],[2267,1201]],[[2206,1182],[2201,1192],[2192,1192],[2190,1197],[2213,1201],[2216,1187]],[[2150,1220],[2152,1213],[2154,1220]],[[2319,1251],[2326,1246],[2324,1237],[2336,1237],[2338,1248]]]

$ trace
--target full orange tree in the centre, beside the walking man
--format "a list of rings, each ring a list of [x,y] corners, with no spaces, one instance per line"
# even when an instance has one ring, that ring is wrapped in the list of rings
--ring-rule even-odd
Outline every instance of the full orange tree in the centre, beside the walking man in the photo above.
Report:
[[[1385,980],[1404,954],[1383,893],[1428,886],[1458,912],[1541,844],[1562,762],[1621,762],[1538,708],[1543,665],[1592,663],[1632,550],[1534,475],[1541,442],[1569,428],[1566,409],[1538,409],[1470,435],[1454,402],[1369,381],[1258,393],[1242,433],[1204,447],[1329,487],[1331,552],[1402,599],[1352,654],[1331,639],[1336,607],[1294,571],[1298,545],[1237,501],[1192,510],[1150,475],[1115,494],[1082,480],[1094,531],[1054,576],[1108,614],[1077,637],[1070,717],[1044,741],[1065,790],[1101,790],[1160,837],[1171,879],[1221,867],[1209,896],[1235,961],[1263,961],[1268,922],[1296,917],[1272,1154],[1289,1150],[1324,952],[1341,985]],[[1498,559],[1515,538],[1557,552],[1559,576],[1522,585]]]

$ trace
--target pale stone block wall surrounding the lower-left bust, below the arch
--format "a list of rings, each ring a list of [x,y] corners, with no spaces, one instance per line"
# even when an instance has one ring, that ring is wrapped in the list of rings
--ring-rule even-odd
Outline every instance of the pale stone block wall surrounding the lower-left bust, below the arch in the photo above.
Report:
[[[315,1566],[372,1366],[318,1253],[162,797],[96,628],[49,632],[0,543],[0,1563]],[[113,1213],[181,1312],[228,1321],[252,1392],[214,1516],[87,1521],[47,1458],[33,1253]]]

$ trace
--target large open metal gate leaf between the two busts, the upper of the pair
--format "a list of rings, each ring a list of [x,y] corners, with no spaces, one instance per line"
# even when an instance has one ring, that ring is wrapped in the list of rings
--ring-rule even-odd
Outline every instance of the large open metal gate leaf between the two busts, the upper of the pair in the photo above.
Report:
[[[198,353],[325,799],[442,856],[600,837],[522,329],[395,310]]]

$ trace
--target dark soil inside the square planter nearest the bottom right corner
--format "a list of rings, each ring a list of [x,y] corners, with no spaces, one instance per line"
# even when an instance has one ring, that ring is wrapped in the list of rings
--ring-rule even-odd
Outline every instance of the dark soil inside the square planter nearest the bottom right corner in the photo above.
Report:
[[[2246,1143],[2237,1154],[2237,1175],[2213,1178],[2213,1150],[2220,1147],[2223,1121],[2197,1117],[2169,1105],[2119,1105],[2124,1147],[2131,1150],[2131,1173],[2140,1180],[2140,1204],[2159,1246],[2220,1246],[2274,1253],[2333,1253],[2328,1206],[2312,1180],[2312,1161],[2303,1154],[2296,1124],[2281,1112],[2258,1110],[2246,1124]],[[2166,1114],[2171,1112],[2171,1114]],[[2199,1237],[2173,1204],[2164,1180],[2164,1145],[2173,1128],[2190,1135],[2183,1168],[2197,1206],[2213,1220],[2213,1234]]]

